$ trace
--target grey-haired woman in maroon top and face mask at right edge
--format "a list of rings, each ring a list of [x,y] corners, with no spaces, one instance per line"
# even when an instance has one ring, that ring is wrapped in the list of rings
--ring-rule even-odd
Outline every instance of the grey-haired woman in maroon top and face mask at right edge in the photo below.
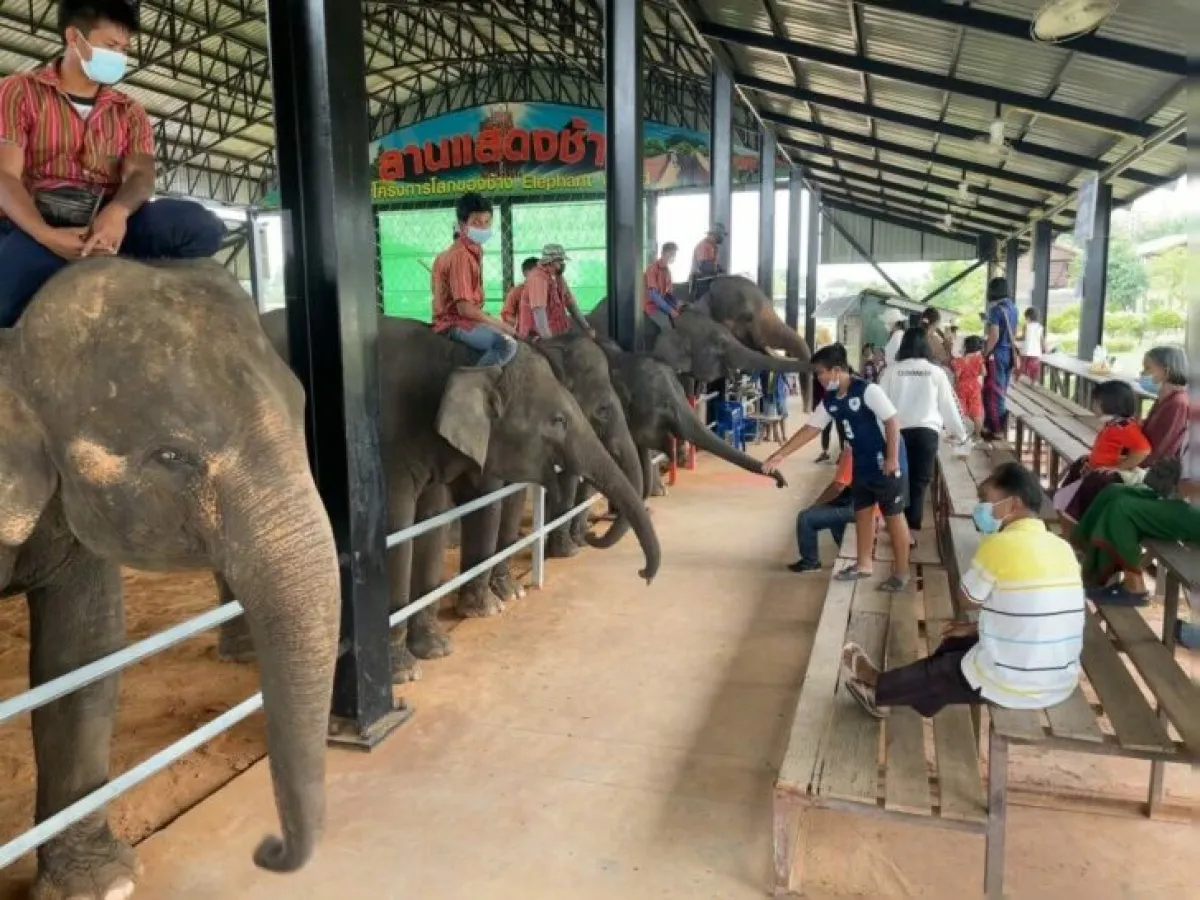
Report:
[[[1141,424],[1141,431],[1150,442],[1150,455],[1139,466],[1150,469],[1160,460],[1174,460],[1180,455],[1188,430],[1188,358],[1178,347],[1156,347],[1146,353],[1141,367],[1139,384],[1158,394]],[[1111,467],[1088,472],[1066,506],[1067,517],[1080,521],[1100,491],[1126,480],[1126,475]]]

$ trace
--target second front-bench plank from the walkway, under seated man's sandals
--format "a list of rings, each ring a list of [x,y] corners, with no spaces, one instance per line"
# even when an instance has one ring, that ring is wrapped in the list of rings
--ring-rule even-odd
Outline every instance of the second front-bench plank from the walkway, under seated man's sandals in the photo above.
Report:
[[[869,587],[866,590],[876,593]],[[864,593],[862,587],[858,593]],[[887,614],[854,611],[846,640],[878,661],[883,659],[887,629]],[[844,679],[839,680],[828,740],[821,749],[820,796],[875,805],[880,793],[880,720],[863,712]]]

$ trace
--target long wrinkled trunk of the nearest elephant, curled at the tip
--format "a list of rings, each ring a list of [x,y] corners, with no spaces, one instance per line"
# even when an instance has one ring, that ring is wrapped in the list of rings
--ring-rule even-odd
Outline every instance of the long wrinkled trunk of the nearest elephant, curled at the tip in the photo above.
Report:
[[[302,442],[299,442],[302,454]],[[221,485],[221,575],[245,608],[260,661],[266,749],[281,838],[254,863],[290,872],[325,824],[325,739],[337,661],[340,574],[334,534],[307,461],[294,451],[262,484],[245,470]],[[254,454],[248,454],[253,456]]]

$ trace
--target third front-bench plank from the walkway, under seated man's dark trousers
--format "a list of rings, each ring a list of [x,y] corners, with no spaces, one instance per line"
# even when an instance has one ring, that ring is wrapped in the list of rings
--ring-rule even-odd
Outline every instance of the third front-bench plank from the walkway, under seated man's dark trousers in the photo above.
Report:
[[[916,662],[920,637],[912,598],[898,596],[888,622],[887,667]],[[929,774],[925,770],[925,726],[920,715],[908,707],[890,710],[884,726],[886,781],[883,805],[889,810],[930,815]]]

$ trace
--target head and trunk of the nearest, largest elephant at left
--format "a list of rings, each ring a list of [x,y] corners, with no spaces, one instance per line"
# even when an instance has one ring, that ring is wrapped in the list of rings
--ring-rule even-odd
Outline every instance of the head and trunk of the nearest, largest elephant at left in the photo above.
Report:
[[[254,858],[275,871],[302,866],[324,826],[338,636],[304,404],[253,302],[215,263],[76,263],[0,331],[0,576],[56,516],[114,565],[228,581],[262,659],[283,836]]]

